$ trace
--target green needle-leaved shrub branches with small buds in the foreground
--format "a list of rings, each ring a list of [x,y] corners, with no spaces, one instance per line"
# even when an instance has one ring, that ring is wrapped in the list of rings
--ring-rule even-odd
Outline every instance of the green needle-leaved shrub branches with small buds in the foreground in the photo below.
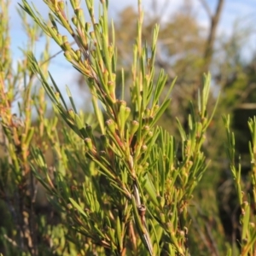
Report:
[[[109,27],[108,1],[101,1],[96,19],[94,2],[86,0],[90,18],[85,19],[79,1],[71,0],[71,20],[66,3],[44,2],[49,7],[49,22],[26,0],[20,3],[20,17],[31,44],[23,49],[24,61],[18,64],[17,72],[12,70],[8,47],[8,1],[1,2],[0,121],[5,151],[0,158],[0,192],[9,219],[0,232],[4,253],[189,255],[191,218],[196,222],[191,214],[193,196],[207,170],[204,144],[217,106],[209,108],[210,74],[203,76],[197,104],[189,102],[189,116],[183,117],[187,127],[172,119],[179,131],[179,137],[174,137],[157,124],[169,107],[175,79],[167,85],[166,73],[155,70],[159,26],[154,26],[151,47],[143,44],[141,1],[129,96],[125,96],[124,72],[120,96],[116,92],[121,61],[117,59],[114,26]],[[26,14],[34,20],[33,26],[26,25]],[[82,74],[90,89],[93,113],[79,111],[77,96],[68,86],[64,96],[47,73],[43,64],[49,60],[48,40],[41,58],[32,53],[41,31]],[[23,90],[19,90],[21,79]],[[36,82],[40,89],[33,93]],[[51,117],[46,114],[44,92],[52,104]],[[12,108],[17,94],[19,114]],[[32,118],[33,109],[36,119]],[[241,167],[236,167],[230,120],[224,119],[224,123],[230,169],[241,205],[241,255],[253,255],[256,233],[250,203],[256,202],[256,122],[249,121],[253,196],[248,194],[247,200],[242,192]],[[46,214],[37,212],[38,189],[49,201]],[[228,255],[236,252],[227,248]]]

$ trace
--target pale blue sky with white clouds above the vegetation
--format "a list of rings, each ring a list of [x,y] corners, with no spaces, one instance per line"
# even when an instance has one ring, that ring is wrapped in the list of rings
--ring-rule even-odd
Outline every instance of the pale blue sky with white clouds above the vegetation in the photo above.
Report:
[[[202,26],[210,26],[209,18],[205,9],[203,9],[201,0],[187,0],[189,1],[195,11],[197,20],[201,23]],[[217,0],[205,0],[214,12],[217,4]],[[43,0],[28,0],[28,3],[34,3],[40,14],[47,19],[48,9]],[[82,6],[84,5],[84,0],[81,0]],[[98,1],[95,1],[98,3]],[[167,3],[168,2],[168,3]],[[160,9],[164,7],[164,13],[162,14],[162,22],[168,20],[168,17],[172,14],[177,13],[181,9],[182,5],[181,0],[157,0],[157,3],[160,4],[159,9],[154,9],[156,12],[160,12]],[[11,49],[13,52],[14,60],[18,61],[20,59],[21,51],[19,47],[26,45],[26,36],[22,30],[22,25],[20,23],[20,17],[16,11],[18,3],[21,3],[21,0],[12,0],[9,8],[10,16],[10,34],[12,38]],[[152,13],[152,0],[143,0],[143,9]],[[166,4],[167,3],[167,4]],[[132,5],[136,8],[137,0],[109,0],[109,16],[113,20],[117,17],[117,14],[120,10],[125,7]],[[97,8],[96,8],[97,9]],[[145,17],[146,19],[146,17]],[[256,50],[256,1],[255,0],[225,0],[224,11],[221,15],[221,19],[218,26],[218,35],[228,36],[233,30],[234,23],[237,23],[238,26],[242,27],[251,27],[254,29],[252,37],[247,41],[247,44],[244,46],[243,55],[245,58],[248,58],[252,55],[252,51]],[[255,28],[253,28],[255,27]],[[35,51],[39,54],[44,49],[44,41],[39,40]],[[60,48],[52,42],[50,47],[51,55],[54,55],[58,52]],[[61,88],[65,87],[67,84],[69,87],[70,84],[73,84],[73,78],[78,76],[78,73],[73,69],[71,65],[67,63],[62,54],[58,55],[51,61],[49,66],[49,71],[53,75],[57,84],[61,85]],[[75,86],[71,88],[73,93],[78,93]],[[77,89],[78,90],[78,89]],[[80,99],[80,103],[83,103],[83,99]]]

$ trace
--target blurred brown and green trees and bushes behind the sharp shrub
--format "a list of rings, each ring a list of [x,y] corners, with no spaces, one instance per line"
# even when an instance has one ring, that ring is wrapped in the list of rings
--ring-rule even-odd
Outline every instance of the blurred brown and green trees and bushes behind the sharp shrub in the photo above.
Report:
[[[255,52],[251,52],[250,57],[245,58],[243,46],[255,30],[252,26],[247,26],[248,23],[237,20],[229,35],[217,33],[220,18],[225,19],[222,17],[225,0],[214,1],[215,9],[210,9],[207,1],[199,0],[201,9],[207,13],[209,27],[201,25],[196,18],[194,5],[190,1],[183,1],[179,12],[168,16],[167,5],[171,5],[172,1],[160,5],[157,0],[148,0],[154,11],[150,10],[144,15],[143,42],[150,42],[154,24],[160,23],[157,70],[164,68],[170,83],[177,76],[176,85],[172,90],[171,106],[159,125],[176,134],[174,120],[178,117],[186,126],[189,101],[197,101],[196,95],[201,86],[202,73],[207,71],[212,73],[212,106],[220,91],[217,113],[212,119],[207,143],[204,145],[207,156],[212,162],[195,191],[193,205],[189,211],[191,225],[194,227],[189,233],[191,255],[224,255],[229,244],[233,248],[239,247],[240,207],[224,150],[225,131],[222,120],[224,113],[230,113],[232,129],[236,132],[236,149],[241,154],[243,181],[247,188],[244,192],[250,192],[252,189],[251,183],[247,182],[247,174],[250,170],[247,145],[250,133],[247,119],[256,115],[256,55]],[[144,4],[147,4],[146,2],[144,1]],[[163,16],[165,16],[164,20]],[[132,61],[131,49],[137,33],[136,17],[137,10],[127,7],[119,12],[115,20],[118,60],[121,61],[118,66],[125,70],[127,92],[129,75],[131,75],[128,72]],[[76,79],[80,93],[85,96],[84,79],[82,77]],[[121,84],[121,69],[118,79],[120,83],[117,84]],[[84,108],[88,109],[88,105],[84,104]],[[2,154],[3,148],[2,152],[0,150],[0,155]],[[52,155],[49,154],[49,162],[52,161],[51,157]],[[44,194],[44,192],[40,193]],[[41,196],[40,193],[37,211],[54,214],[49,210],[44,195]],[[256,214],[256,206],[252,207]],[[10,217],[1,197],[0,208],[2,212],[0,226],[8,230]],[[58,222],[57,217],[55,221]],[[3,247],[1,241],[0,246]]]

